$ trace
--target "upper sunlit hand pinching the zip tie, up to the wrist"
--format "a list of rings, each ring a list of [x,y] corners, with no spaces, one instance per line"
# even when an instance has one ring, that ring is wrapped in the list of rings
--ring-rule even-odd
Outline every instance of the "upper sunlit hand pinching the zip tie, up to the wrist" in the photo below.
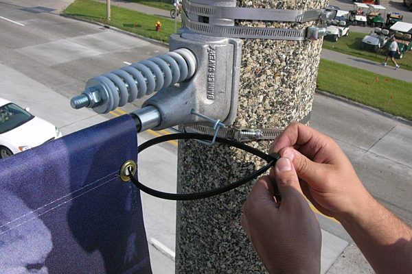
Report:
[[[293,160],[303,192],[325,215],[351,216],[372,199],[339,145],[306,125],[289,125],[273,143],[273,152]]]

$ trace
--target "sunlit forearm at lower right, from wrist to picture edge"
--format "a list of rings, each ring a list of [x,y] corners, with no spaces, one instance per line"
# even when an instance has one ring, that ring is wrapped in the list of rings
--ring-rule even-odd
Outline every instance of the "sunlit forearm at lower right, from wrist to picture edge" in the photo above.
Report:
[[[371,196],[358,212],[339,221],[376,273],[412,273],[411,228]]]

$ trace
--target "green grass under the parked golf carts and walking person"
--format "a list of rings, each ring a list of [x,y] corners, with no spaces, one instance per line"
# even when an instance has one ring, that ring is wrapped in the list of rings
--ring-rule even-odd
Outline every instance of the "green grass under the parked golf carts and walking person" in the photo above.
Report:
[[[338,42],[332,42],[325,38],[323,40],[323,48],[331,49],[332,51],[339,51],[341,53],[349,55],[354,55],[375,62],[385,61],[386,55],[384,49],[380,49],[378,53],[361,49],[362,39],[363,37],[365,37],[365,35],[367,34],[361,34],[359,32],[350,32],[349,36],[339,38]],[[412,71],[412,51],[408,51],[407,53],[405,53],[404,58],[397,59],[396,62],[400,64],[400,67],[402,69]],[[390,60],[388,64],[393,65]]]

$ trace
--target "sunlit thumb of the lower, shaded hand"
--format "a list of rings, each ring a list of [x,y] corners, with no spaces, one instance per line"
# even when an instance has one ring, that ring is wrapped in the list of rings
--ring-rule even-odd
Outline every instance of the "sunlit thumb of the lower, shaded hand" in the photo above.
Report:
[[[291,193],[299,192],[301,195],[304,195],[299,185],[295,167],[288,158],[280,158],[277,160],[275,165],[275,180],[282,201],[290,196]]]

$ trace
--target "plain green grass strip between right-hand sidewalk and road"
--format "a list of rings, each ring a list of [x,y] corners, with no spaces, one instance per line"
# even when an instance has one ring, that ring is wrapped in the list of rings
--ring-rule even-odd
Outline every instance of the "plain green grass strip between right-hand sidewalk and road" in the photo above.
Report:
[[[412,121],[408,82],[322,59],[317,88]]]

